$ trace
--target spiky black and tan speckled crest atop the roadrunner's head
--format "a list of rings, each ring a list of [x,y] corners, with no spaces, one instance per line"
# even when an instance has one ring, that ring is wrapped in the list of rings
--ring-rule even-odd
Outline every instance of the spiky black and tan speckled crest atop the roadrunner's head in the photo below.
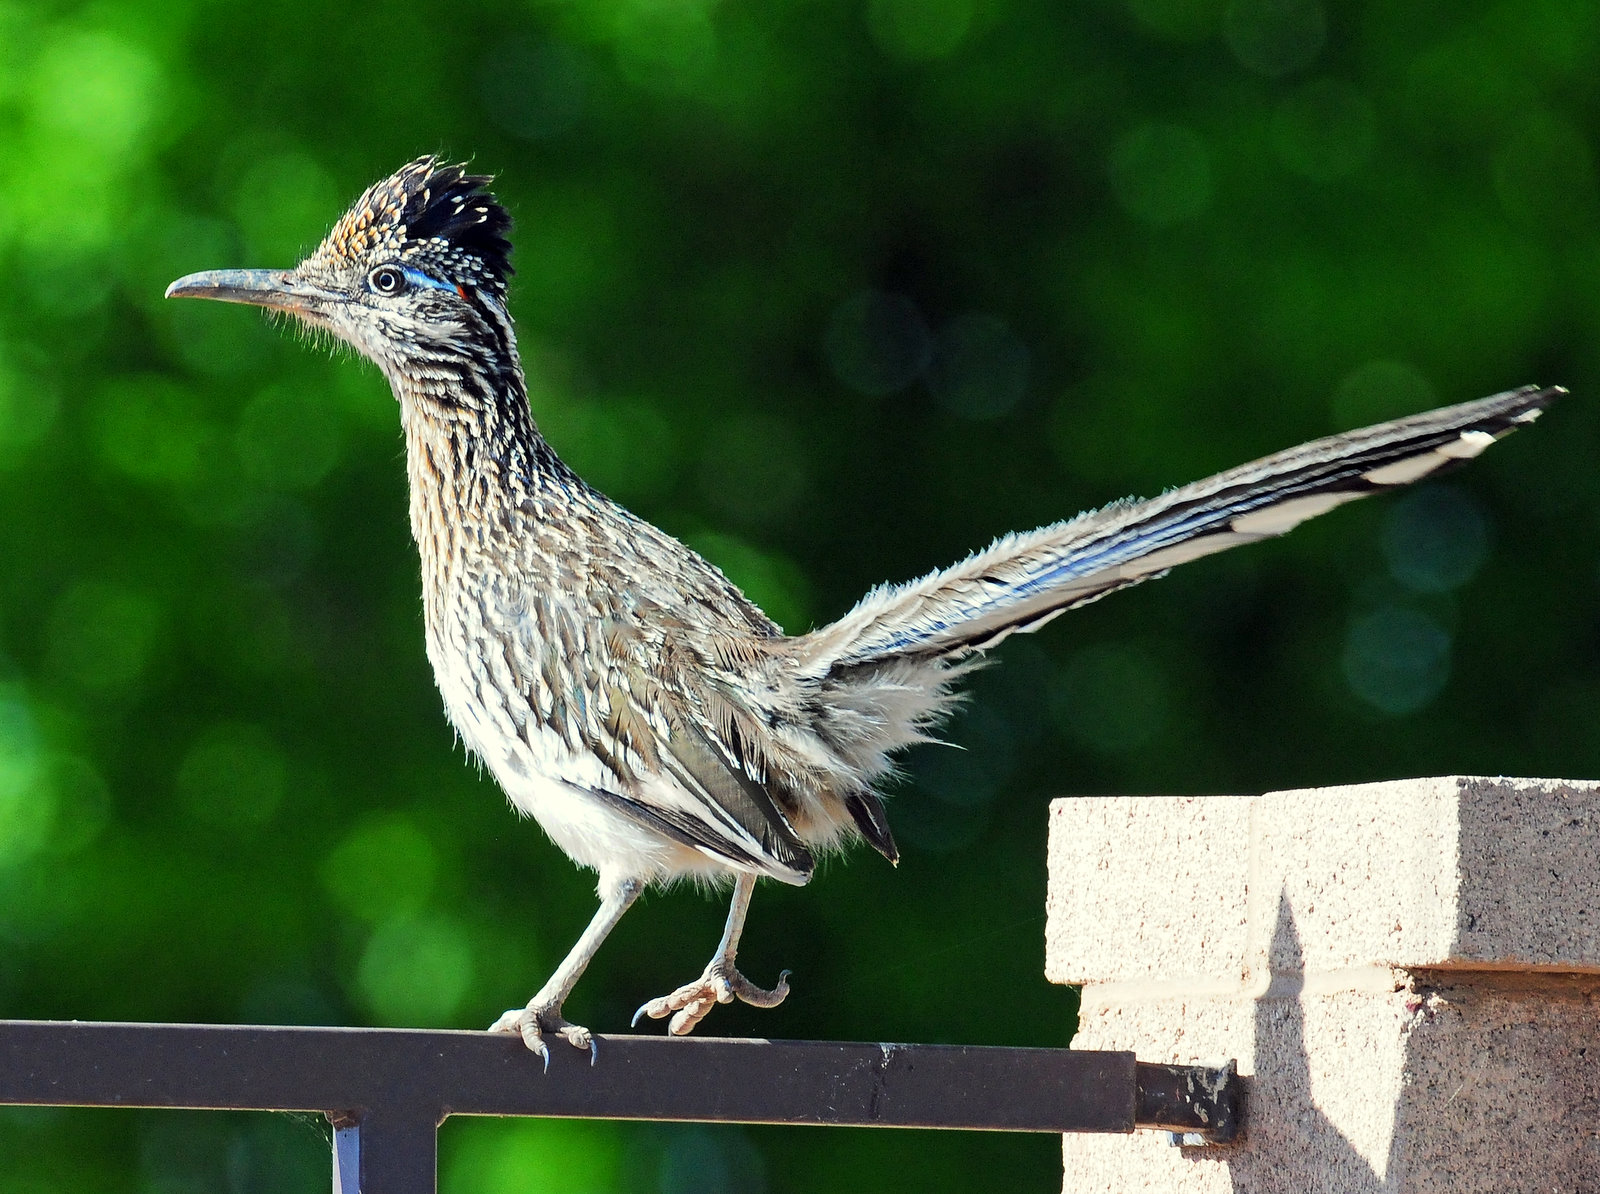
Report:
[[[370,186],[314,256],[330,266],[413,261],[504,293],[512,274],[510,216],[486,190],[490,182],[464,165],[419,157]]]

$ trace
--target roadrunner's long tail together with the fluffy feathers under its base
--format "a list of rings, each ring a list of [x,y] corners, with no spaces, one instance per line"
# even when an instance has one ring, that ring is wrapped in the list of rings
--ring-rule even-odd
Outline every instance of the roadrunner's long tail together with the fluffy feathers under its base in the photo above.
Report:
[[[954,568],[874,589],[832,626],[787,640],[803,720],[834,760],[834,786],[856,826],[896,856],[872,784],[893,770],[896,751],[926,741],[978,651],[1179,563],[1435,477],[1533,423],[1565,392],[1530,386],[1330,435],[1160,498],[1006,535]]]

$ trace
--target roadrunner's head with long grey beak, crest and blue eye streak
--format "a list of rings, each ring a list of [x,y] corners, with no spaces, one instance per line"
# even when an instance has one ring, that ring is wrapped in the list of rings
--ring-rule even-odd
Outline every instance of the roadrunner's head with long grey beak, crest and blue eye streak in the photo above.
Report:
[[[189,274],[168,298],[248,303],[323,328],[392,383],[501,349],[512,360],[510,216],[488,178],[422,157],[374,182],[293,269]]]

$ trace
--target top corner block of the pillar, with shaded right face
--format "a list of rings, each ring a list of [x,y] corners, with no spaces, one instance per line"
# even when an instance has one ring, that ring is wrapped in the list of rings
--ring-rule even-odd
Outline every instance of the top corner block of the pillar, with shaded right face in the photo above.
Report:
[[[1600,972],[1600,784],[1451,776],[1253,803],[1258,895],[1288,898],[1306,970]]]

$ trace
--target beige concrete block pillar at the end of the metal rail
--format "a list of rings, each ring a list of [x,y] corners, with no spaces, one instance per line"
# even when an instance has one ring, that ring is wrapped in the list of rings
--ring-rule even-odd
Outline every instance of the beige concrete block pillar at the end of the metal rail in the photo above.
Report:
[[[1245,1136],[1067,1136],[1066,1191],[1600,1194],[1600,783],[1056,800],[1078,1048],[1237,1058]]]

